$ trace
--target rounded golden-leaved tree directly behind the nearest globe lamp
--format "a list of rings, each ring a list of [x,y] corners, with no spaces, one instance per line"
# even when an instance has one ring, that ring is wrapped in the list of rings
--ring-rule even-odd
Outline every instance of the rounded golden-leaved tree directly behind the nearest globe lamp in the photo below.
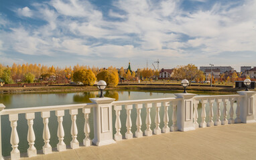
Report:
[[[115,70],[103,70],[97,75],[97,81],[103,80],[107,85],[116,86],[119,82],[118,73]]]

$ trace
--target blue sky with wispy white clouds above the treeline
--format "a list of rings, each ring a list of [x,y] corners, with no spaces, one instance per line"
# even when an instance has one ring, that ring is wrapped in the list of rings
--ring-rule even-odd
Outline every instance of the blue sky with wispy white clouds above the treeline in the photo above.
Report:
[[[255,0],[1,0],[0,63],[256,66]]]

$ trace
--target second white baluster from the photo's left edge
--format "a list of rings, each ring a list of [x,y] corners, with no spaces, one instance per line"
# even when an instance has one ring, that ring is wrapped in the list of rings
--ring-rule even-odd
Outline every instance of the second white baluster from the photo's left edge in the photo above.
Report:
[[[27,131],[27,141],[29,148],[27,149],[27,156],[34,157],[37,155],[36,147],[34,146],[36,136],[33,129],[35,113],[25,113],[25,119],[27,119],[28,131]]]

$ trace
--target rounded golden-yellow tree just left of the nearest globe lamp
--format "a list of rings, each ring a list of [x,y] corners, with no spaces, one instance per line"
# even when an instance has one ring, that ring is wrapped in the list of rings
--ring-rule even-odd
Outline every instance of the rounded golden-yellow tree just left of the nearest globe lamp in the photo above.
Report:
[[[73,74],[74,81],[80,81],[84,85],[94,85],[96,77],[90,69],[81,69],[74,72]]]

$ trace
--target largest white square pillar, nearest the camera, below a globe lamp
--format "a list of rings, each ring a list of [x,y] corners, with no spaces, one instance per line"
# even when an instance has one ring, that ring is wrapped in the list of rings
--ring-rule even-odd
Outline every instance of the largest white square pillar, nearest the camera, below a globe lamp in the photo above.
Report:
[[[116,143],[113,139],[112,127],[112,102],[115,99],[90,98],[90,101],[96,103],[93,108],[94,139],[92,139],[92,143],[99,146]]]

